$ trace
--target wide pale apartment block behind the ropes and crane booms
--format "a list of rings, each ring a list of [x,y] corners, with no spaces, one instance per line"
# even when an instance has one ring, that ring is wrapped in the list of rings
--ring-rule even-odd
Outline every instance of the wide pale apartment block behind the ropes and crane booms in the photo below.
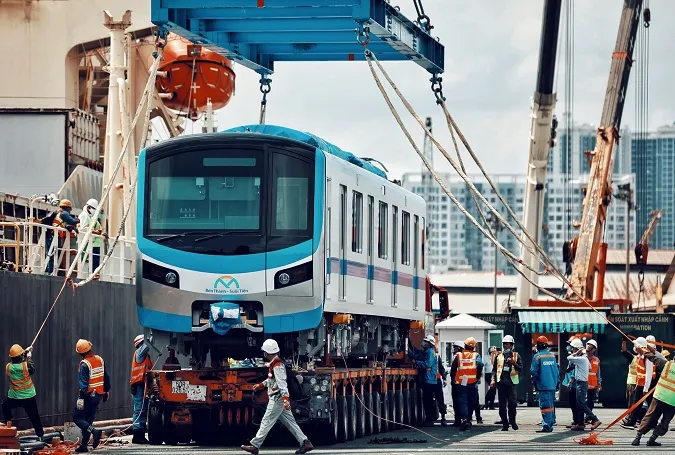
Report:
[[[468,185],[454,173],[441,173],[440,177],[462,206],[476,220],[481,221]],[[501,216],[516,227],[516,223],[509,217],[485,178],[482,175],[470,175],[469,178],[490,204],[499,209]],[[576,229],[567,228],[567,219],[569,218],[569,226],[575,220],[581,219],[581,187],[587,182],[588,176],[577,178],[569,185],[565,184],[566,178],[566,175],[559,174],[550,175],[548,178],[542,229],[544,250],[559,267],[563,266],[563,243],[577,234]],[[620,178],[622,176],[615,176],[615,181]],[[525,176],[501,174],[493,175],[491,179],[520,221],[524,208]],[[402,185],[427,201],[428,251],[432,272],[494,270],[495,251],[492,243],[461,213],[435,182],[429,188],[430,194],[426,194],[422,175],[417,172],[404,174]],[[487,214],[483,205],[481,208]],[[631,214],[631,222],[634,223],[633,218],[634,212]],[[625,224],[625,203],[615,201],[609,207],[607,218],[605,241],[609,244],[609,248],[626,247]],[[520,235],[520,231],[517,232]],[[520,243],[510,232],[503,229],[498,233],[498,239],[509,251],[520,256]],[[634,229],[631,229],[629,241],[631,245],[635,242]],[[516,273],[503,255],[497,255],[497,261],[498,270],[506,274]]]

